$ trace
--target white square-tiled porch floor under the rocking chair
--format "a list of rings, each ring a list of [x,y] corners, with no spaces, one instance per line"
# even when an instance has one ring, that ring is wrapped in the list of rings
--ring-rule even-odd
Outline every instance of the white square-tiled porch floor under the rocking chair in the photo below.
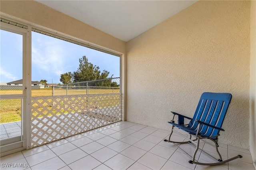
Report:
[[[222,159],[238,154],[238,158],[221,166],[189,164],[189,156],[174,144],[164,142],[170,132],[131,122],[118,122],[46,144],[1,157],[1,170],[254,170],[249,150],[220,144]],[[175,134],[172,140],[184,140]],[[182,149],[193,154],[194,148],[182,144]],[[200,148],[216,155],[214,147],[202,143]],[[201,162],[214,162],[206,154],[198,152]],[[27,165],[22,168],[6,168],[3,164]]]

